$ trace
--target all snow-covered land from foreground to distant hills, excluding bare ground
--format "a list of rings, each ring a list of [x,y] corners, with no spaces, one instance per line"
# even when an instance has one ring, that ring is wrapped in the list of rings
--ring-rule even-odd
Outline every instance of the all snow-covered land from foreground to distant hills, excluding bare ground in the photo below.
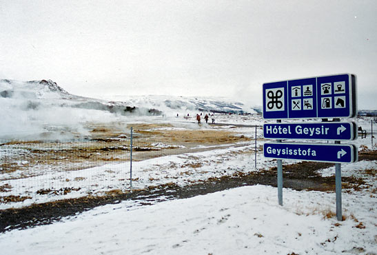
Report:
[[[216,123],[222,125],[195,123],[194,116],[198,113],[195,109],[198,106],[239,110],[242,105],[237,103],[147,96],[131,103],[143,111],[159,108],[164,114],[130,116],[112,112],[114,108],[123,110],[128,103],[72,96],[52,81],[14,83],[3,80],[0,85],[3,88],[0,106],[6,109],[2,112],[4,124],[0,130],[1,139],[83,139],[90,136],[93,130],[88,128],[87,124],[101,121],[124,124],[119,126],[123,133],[116,134],[119,141],[127,140],[129,134],[124,130],[130,130],[131,124],[143,123],[151,126],[149,131],[152,133],[182,135],[186,132],[218,132],[216,134],[232,134],[235,137],[232,137],[234,142],[197,142],[192,143],[191,147],[187,143],[154,141],[153,146],[161,150],[161,154],[132,163],[133,189],[143,190],[167,183],[185,186],[238,173],[261,172],[276,166],[276,161],[263,157],[261,148],[265,140],[262,129],[257,128],[255,167],[255,128],[252,126],[263,125],[265,121],[261,116],[216,114]],[[245,109],[245,112],[252,112],[250,110],[251,108]],[[179,114],[179,117],[176,114]],[[190,114],[190,118],[184,119],[183,116],[187,114]],[[372,146],[370,139],[371,119],[352,121],[367,130],[369,135],[367,139],[350,143],[357,145],[359,152],[376,151],[376,140]],[[160,126],[156,127],[156,123]],[[136,130],[135,132],[137,134]],[[139,131],[138,135],[140,134]],[[73,143],[66,144],[72,146]],[[10,162],[17,170],[2,171],[0,197],[25,199],[1,202],[0,210],[65,198],[102,196],[107,192],[125,192],[131,188],[130,162],[127,159],[120,163],[101,163],[94,167],[85,167],[85,160],[70,162],[67,158],[67,164],[73,166],[70,170],[62,165],[43,165],[38,161],[34,162],[36,164],[33,167],[27,167],[32,162],[28,157],[28,150],[22,146],[37,150],[38,146],[42,145],[20,145],[16,149],[12,146],[2,146],[0,156],[4,158],[1,158],[1,161],[10,154],[20,155],[23,159]],[[174,153],[165,154],[170,147]],[[138,154],[135,154],[136,159],[137,156]],[[296,162],[283,161],[283,164]],[[193,198],[147,201],[152,205],[145,205],[145,201],[141,200],[119,201],[117,204],[96,207],[63,218],[50,225],[30,227],[26,230],[8,230],[0,234],[0,253],[377,254],[376,171],[376,159],[342,164],[343,176],[360,181],[357,189],[343,188],[345,221],[336,220],[336,198],[331,190],[314,192],[285,188],[283,206],[279,206],[276,187],[255,185]],[[323,178],[334,176],[334,172],[334,167],[318,170],[318,174]]]

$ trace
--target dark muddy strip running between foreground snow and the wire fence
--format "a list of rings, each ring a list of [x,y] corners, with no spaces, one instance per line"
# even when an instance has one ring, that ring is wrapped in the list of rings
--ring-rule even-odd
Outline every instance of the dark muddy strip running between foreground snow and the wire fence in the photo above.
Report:
[[[359,161],[376,160],[377,152],[360,152]],[[318,190],[322,192],[334,192],[335,179],[322,177],[318,170],[330,167],[331,163],[303,162],[294,165],[283,166],[284,187],[294,190]],[[376,171],[369,174],[376,176]],[[60,221],[63,217],[74,216],[77,213],[90,210],[99,205],[116,204],[125,200],[138,200],[140,205],[149,205],[156,201],[165,201],[178,198],[190,198],[202,194],[218,192],[245,185],[272,185],[277,186],[276,167],[260,172],[236,173],[232,176],[212,178],[207,181],[199,181],[193,185],[179,186],[174,183],[150,186],[143,190],[132,192],[109,192],[105,196],[87,196],[83,198],[66,199],[51,203],[43,203],[23,207],[20,209],[0,210],[0,232],[14,229],[25,229],[36,225],[50,224]],[[342,177],[342,187],[347,190],[360,190],[365,188],[363,179],[354,177]],[[376,190],[373,191],[377,193]],[[247,199],[247,198],[245,198]],[[152,201],[152,202],[151,202]]]

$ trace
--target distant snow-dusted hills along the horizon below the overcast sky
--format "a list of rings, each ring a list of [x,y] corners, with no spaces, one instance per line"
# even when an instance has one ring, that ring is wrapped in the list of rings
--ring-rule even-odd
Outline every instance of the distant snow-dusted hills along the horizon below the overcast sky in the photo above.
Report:
[[[162,115],[170,112],[256,113],[245,109],[243,103],[229,99],[180,97],[180,96],[112,96],[112,100],[92,99],[68,93],[51,80],[12,81],[0,80],[0,96],[4,99],[24,101],[22,110],[48,108],[49,105],[64,108],[101,110],[128,115]],[[25,103],[26,102],[26,103]],[[17,103],[16,103],[17,105]]]

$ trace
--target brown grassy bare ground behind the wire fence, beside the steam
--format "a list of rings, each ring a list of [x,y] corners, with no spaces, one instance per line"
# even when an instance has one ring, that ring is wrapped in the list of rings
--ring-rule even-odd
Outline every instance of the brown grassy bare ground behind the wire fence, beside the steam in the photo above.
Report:
[[[216,145],[232,145],[249,141],[236,132],[222,130],[174,130],[170,124],[134,123],[133,160],[142,161],[159,156],[214,150]],[[21,178],[36,176],[43,172],[27,170],[50,169],[74,171],[112,162],[130,161],[130,128],[124,123],[89,123],[90,137],[86,141],[42,142],[12,141],[3,143],[23,154],[7,156],[0,163],[0,172],[25,172]],[[168,128],[168,129],[166,129]],[[166,147],[156,147],[155,143]],[[201,147],[202,146],[202,147]],[[205,147],[203,147],[205,146]],[[25,161],[25,163],[15,163]],[[2,177],[0,177],[0,180]]]

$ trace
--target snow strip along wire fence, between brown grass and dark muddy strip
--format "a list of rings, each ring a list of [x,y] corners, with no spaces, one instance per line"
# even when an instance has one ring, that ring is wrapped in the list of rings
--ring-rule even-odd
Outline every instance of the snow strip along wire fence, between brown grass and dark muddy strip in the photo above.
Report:
[[[254,129],[251,131],[254,132]],[[246,135],[247,133],[245,133]],[[252,136],[252,134],[249,135]],[[261,130],[258,130],[258,135],[261,137]],[[260,145],[262,143],[258,141],[257,147]],[[256,171],[254,146],[254,142],[244,142],[230,144],[224,148],[217,146],[220,148],[216,150],[184,154],[179,154],[180,148],[178,147],[172,149],[178,153],[176,155],[132,162],[132,179],[134,180],[132,188],[143,189],[150,185],[172,182],[178,185],[187,185],[212,177],[232,175],[235,172]],[[194,149],[196,147],[192,150]],[[261,151],[258,151],[258,169],[272,166],[274,166],[274,162],[271,159],[264,159]],[[26,176],[28,177],[26,178]],[[88,196],[88,194],[101,195],[111,190],[129,190],[130,162],[111,163],[75,171],[56,171],[54,167],[48,167],[48,165],[45,167],[37,165],[28,171],[18,170],[2,174],[1,178],[0,186],[12,188],[3,190],[0,192],[0,196],[30,196],[30,198],[18,203],[0,203],[0,209],[23,207],[32,203],[77,198]],[[70,192],[63,193],[67,187]],[[39,192],[47,190],[51,192]],[[61,192],[56,192],[59,190]]]

